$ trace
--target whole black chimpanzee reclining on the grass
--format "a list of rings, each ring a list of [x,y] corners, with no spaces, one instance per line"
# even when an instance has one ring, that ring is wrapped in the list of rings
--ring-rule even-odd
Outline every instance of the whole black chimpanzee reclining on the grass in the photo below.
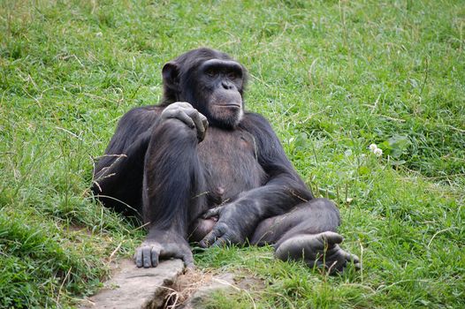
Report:
[[[339,211],[315,199],[268,121],[244,109],[246,69],[194,49],[164,64],[158,105],[129,110],[97,162],[92,190],[149,230],[137,267],[160,258],[194,266],[188,241],[271,244],[281,260],[341,271],[359,260],[339,247]]]

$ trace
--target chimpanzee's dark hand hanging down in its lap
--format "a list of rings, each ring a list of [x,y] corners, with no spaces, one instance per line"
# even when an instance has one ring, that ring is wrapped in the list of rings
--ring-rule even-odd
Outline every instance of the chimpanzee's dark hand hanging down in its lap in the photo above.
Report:
[[[204,219],[218,216],[213,230],[203,237],[199,245],[203,248],[217,245],[243,244],[256,226],[256,216],[245,205],[226,204],[208,210]]]

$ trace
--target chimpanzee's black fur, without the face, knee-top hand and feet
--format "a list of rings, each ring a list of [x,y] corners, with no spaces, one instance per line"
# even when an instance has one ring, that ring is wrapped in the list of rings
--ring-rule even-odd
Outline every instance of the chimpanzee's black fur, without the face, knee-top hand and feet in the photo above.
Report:
[[[200,241],[218,220],[205,223],[202,215],[219,205],[235,209],[218,221],[233,243],[243,243],[245,236],[253,244],[279,244],[295,235],[336,230],[338,209],[329,200],[313,200],[266,119],[247,111],[240,121],[210,115],[215,86],[199,72],[210,59],[233,60],[216,50],[195,49],[164,66],[162,102],[121,118],[108,156],[96,164],[95,196],[118,212],[139,215],[149,223],[149,238],[156,230],[170,230]],[[242,69],[234,84],[240,97],[247,83]],[[177,119],[160,122],[173,102],[189,102],[208,118],[202,142]]]

